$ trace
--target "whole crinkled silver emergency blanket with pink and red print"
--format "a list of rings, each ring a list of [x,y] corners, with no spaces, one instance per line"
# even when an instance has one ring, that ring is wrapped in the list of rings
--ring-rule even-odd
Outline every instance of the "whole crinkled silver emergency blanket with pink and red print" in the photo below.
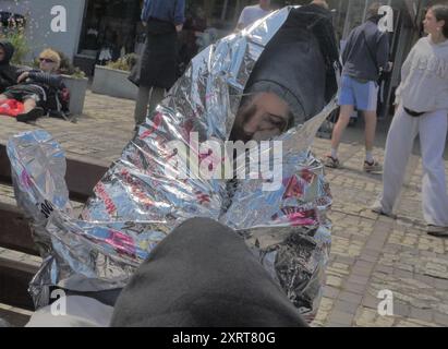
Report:
[[[275,140],[282,142],[277,158],[281,183],[275,191],[264,190],[266,178],[204,176],[204,168],[216,171],[227,159],[226,149],[217,154],[201,145],[228,140],[254,64],[290,10],[279,10],[196,56],[95,186],[78,218],[70,206],[59,144],[46,131],[10,140],[16,198],[33,221],[44,257],[29,287],[36,308],[48,304],[52,286],[75,291],[124,287],[177,226],[208,217],[239,231],[298,309],[313,317],[331,241],[326,216],[331,195],[323,165],[310,148],[335,101]],[[173,149],[173,141],[184,147]],[[258,153],[273,159],[269,144]],[[241,155],[243,166],[250,164],[247,154]]]

